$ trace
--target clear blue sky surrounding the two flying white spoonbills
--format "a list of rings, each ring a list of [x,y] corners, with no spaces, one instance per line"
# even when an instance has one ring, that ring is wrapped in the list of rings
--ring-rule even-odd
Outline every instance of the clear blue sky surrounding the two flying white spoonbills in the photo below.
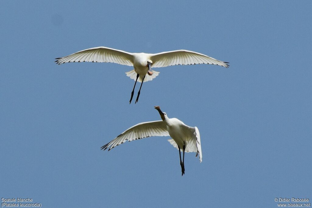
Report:
[[[277,207],[312,201],[311,1],[1,1],[0,197],[42,207]],[[91,47],[185,49],[129,105],[132,67],[56,65]],[[100,147],[134,124],[197,126],[202,163],[169,137]]]

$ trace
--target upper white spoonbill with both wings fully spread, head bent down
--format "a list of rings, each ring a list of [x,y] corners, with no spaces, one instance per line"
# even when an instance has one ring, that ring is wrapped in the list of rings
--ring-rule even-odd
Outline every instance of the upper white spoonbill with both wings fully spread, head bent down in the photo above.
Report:
[[[172,65],[190,65],[190,64],[214,64],[229,67],[228,62],[223,62],[193,51],[178,50],[162,53],[129,53],[126,51],[116,50],[107,47],[89,48],[78,51],[68,56],[56,58],[56,64],[67,62],[110,62],[122,65],[133,66],[134,70],[126,72],[127,76],[135,80],[131,92],[131,103],[134,88],[137,81],[141,82],[138,96],[135,103],[138,102],[143,82],[147,82],[158,76],[159,72],[151,68],[165,67]],[[148,74],[149,76],[146,76]]]

